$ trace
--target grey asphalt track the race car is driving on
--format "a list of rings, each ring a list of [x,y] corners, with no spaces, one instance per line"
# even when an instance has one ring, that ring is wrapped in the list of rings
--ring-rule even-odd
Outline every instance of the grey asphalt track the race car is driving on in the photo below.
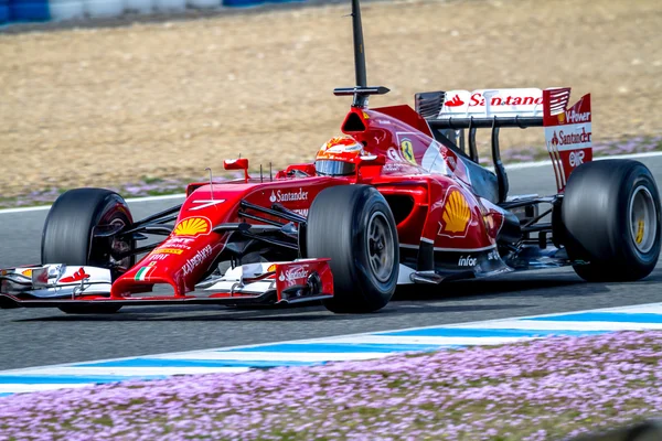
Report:
[[[662,157],[640,159],[662,182]],[[511,170],[511,194],[554,194],[549,165]],[[136,218],[178,201],[131,204]],[[0,268],[40,260],[46,211],[0,213]],[[0,310],[0,369],[412,326],[621,306],[662,301],[662,265],[636,283],[586,283],[572,269],[415,286],[378,313],[333,314],[321,305],[292,309],[138,306],[113,315],[58,310]]]

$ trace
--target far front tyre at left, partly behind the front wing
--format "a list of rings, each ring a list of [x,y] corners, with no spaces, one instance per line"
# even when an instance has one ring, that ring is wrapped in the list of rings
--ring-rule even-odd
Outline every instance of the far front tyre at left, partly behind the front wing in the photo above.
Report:
[[[42,235],[42,263],[93,266],[109,268],[113,280],[136,262],[136,257],[115,261],[113,252],[128,251],[132,240],[94,238],[98,227],[121,226],[134,223],[124,198],[104,189],[75,189],[63,193],[51,207]],[[120,310],[118,305],[81,304],[61,306],[67,314],[106,314]]]

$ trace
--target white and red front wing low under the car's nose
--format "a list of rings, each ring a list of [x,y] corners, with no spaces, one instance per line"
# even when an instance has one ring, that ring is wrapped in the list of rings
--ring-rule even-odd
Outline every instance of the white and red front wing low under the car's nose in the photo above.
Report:
[[[211,277],[183,295],[111,295],[110,270],[35,265],[0,270],[0,308],[151,304],[278,304],[333,297],[329,259],[247,263]]]

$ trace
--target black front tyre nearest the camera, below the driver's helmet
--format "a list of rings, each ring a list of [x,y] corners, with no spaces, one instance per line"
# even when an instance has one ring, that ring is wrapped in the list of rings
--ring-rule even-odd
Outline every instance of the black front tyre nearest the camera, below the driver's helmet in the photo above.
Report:
[[[372,186],[323,190],[308,214],[310,257],[331,258],[332,312],[364,313],[384,308],[397,284],[399,247],[393,213]]]

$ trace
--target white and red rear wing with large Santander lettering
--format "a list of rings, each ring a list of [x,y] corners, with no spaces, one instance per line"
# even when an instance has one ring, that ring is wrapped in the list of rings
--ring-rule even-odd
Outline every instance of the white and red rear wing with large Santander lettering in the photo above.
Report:
[[[428,92],[416,94],[416,111],[426,119],[435,138],[446,138],[444,132],[448,130],[459,131],[459,148],[463,151],[468,129],[468,155],[474,162],[477,129],[492,129],[492,160],[498,175],[505,175],[499,129],[544,127],[556,185],[562,192],[573,170],[592,159],[590,95],[567,108],[569,97],[569,87]]]

